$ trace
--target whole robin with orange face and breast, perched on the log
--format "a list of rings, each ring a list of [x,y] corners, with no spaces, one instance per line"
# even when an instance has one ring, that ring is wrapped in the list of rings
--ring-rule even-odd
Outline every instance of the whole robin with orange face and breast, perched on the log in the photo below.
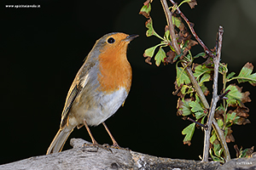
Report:
[[[89,126],[101,123],[112,139],[113,147],[119,148],[105,121],[119,109],[130,91],[131,65],[126,51],[135,37],[138,35],[113,32],[96,41],[68,91],[61,126],[47,155],[62,150],[74,127],[86,127],[92,144],[99,145]]]

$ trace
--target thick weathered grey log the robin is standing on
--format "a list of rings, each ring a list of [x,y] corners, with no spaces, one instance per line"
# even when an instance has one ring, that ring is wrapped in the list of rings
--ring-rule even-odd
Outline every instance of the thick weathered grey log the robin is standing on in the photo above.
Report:
[[[73,149],[47,156],[34,156],[0,165],[0,170],[26,169],[217,169],[219,162],[201,162],[148,156],[128,150],[104,150],[83,139],[71,139]]]

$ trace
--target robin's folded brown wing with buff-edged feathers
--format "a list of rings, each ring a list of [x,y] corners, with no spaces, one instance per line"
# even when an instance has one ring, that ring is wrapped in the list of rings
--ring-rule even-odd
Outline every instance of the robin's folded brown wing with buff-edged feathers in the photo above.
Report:
[[[74,78],[71,87],[69,88],[67,99],[61,115],[61,127],[67,124],[67,118],[69,116],[70,108],[73,105],[74,100],[79,96],[82,89],[86,86],[90,75],[90,69],[94,65],[87,66],[85,63],[80,68],[77,76]]]

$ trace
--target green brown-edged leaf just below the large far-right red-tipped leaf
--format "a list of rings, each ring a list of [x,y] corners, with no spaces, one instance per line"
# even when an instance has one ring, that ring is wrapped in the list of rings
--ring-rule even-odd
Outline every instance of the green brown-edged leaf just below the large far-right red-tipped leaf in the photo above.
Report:
[[[227,103],[229,105],[236,105],[237,103],[240,104],[242,94],[241,92],[239,92],[236,85],[230,84],[230,86],[228,86],[226,90],[229,90],[229,89],[230,89],[230,93],[226,95],[226,97],[228,98]]]

